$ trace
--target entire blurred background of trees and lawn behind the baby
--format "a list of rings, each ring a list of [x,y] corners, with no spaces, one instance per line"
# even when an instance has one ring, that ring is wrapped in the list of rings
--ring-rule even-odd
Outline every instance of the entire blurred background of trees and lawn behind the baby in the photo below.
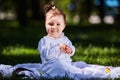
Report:
[[[43,6],[51,0],[0,0],[0,63],[41,62]],[[120,0],[54,0],[67,17],[74,61],[120,66]]]

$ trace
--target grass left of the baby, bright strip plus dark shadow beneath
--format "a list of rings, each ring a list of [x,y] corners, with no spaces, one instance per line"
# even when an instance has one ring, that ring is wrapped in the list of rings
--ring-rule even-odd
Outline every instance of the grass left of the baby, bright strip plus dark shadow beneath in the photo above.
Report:
[[[40,63],[37,49],[24,45],[6,46],[0,53],[0,63],[16,65],[21,63]]]

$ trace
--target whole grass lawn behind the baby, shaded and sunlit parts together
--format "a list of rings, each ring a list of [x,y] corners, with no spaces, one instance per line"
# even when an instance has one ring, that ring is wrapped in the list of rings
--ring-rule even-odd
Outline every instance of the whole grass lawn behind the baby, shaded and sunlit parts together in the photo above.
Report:
[[[0,64],[40,63],[38,41],[46,35],[44,25],[0,27]],[[120,66],[120,27],[118,25],[70,26],[65,35],[76,47],[73,61]]]

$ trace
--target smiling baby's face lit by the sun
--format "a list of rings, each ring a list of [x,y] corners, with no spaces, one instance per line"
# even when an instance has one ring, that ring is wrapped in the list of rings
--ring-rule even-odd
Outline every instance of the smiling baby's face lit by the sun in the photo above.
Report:
[[[58,38],[65,28],[65,21],[62,15],[46,15],[45,26],[49,36]]]

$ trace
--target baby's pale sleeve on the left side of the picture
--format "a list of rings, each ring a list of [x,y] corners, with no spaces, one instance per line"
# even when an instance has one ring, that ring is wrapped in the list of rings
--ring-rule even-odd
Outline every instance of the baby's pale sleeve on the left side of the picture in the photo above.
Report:
[[[38,44],[38,50],[41,53],[42,60],[52,60],[60,55],[58,45],[51,47],[49,40],[41,39]]]

